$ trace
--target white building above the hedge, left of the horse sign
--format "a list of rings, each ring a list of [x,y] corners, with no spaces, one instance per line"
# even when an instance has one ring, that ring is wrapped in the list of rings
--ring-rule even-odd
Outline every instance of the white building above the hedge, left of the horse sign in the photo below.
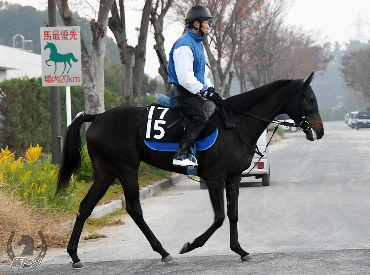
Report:
[[[41,55],[0,45],[0,82],[19,77],[41,77]]]

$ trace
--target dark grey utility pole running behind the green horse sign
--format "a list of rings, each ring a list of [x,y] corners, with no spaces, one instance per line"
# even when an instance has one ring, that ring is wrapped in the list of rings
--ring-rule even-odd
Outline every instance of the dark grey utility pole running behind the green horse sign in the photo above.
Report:
[[[55,0],[48,0],[49,27],[57,26],[57,6]],[[50,122],[51,122],[51,160],[61,164],[62,136],[60,125],[60,90],[59,86],[50,87]]]

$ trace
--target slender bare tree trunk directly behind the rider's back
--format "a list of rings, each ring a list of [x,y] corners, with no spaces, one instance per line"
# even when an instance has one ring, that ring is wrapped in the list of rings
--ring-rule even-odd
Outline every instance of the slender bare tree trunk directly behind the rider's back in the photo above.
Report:
[[[159,74],[164,80],[166,94],[169,95],[169,91],[171,89],[171,83],[168,82],[168,75],[167,75],[167,64],[168,60],[166,57],[166,52],[164,50],[164,36],[163,36],[163,23],[164,23],[164,17],[166,16],[167,11],[171,7],[174,0],[157,0],[155,2],[154,7],[152,8],[151,16],[150,16],[150,22],[152,23],[152,26],[154,28],[154,39],[157,43],[154,45],[155,48],[158,48],[159,54],[162,57],[163,64],[160,64],[160,67],[158,69]],[[158,13],[160,9],[160,13]]]

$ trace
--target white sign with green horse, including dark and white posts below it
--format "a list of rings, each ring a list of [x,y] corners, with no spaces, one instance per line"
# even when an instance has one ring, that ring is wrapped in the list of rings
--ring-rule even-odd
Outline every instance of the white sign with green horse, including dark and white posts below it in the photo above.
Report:
[[[50,86],[53,164],[60,164],[62,137],[58,86],[82,85],[80,27],[41,27],[40,38],[42,85]],[[66,101],[69,97],[69,102],[66,102],[67,125],[69,125],[68,122],[71,120],[69,119],[71,117],[70,89],[68,94],[67,92],[66,88]],[[54,114],[55,112],[59,115]]]

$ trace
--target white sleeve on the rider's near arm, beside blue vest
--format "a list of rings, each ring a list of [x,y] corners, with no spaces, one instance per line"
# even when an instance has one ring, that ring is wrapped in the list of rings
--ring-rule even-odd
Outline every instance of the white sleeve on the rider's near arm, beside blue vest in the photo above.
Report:
[[[192,94],[197,94],[201,91],[203,84],[194,75],[194,55],[190,47],[181,46],[174,50],[173,59],[179,84]]]

